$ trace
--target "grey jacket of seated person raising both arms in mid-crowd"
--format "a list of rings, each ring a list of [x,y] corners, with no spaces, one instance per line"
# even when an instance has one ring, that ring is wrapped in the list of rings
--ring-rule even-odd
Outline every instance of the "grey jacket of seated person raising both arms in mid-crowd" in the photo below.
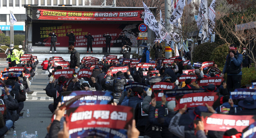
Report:
[[[119,75],[114,80],[110,80],[111,76],[108,76],[106,79],[106,84],[109,86],[114,86],[115,93],[121,93],[123,91],[124,85],[127,84],[129,80],[133,80],[133,77],[131,74],[128,75],[128,77],[129,79],[125,79],[123,75]]]

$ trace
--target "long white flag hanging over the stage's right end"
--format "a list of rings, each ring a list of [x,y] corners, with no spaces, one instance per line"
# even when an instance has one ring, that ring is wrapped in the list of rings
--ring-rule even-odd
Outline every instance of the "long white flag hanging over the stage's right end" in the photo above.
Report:
[[[144,23],[148,25],[149,29],[151,29],[156,33],[156,38],[160,38],[159,26],[155,16],[153,15],[153,13],[150,11],[150,9],[147,7],[147,5],[144,2],[143,2],[143,7],[145,10]]]

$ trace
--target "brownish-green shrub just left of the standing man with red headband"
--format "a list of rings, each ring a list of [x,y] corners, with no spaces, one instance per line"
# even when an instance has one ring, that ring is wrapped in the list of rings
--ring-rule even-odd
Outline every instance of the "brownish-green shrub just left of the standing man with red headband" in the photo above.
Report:
[[[228,55],[229,47],[228,44],[223,44],[216,47],[210,57],[210,60],[214,60],[218,67],[223,68],[226,61],[226,56]]]

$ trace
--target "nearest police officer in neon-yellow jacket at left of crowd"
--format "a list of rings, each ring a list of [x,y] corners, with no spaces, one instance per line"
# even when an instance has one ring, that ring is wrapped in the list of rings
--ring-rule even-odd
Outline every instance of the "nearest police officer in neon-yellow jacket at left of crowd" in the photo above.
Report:
[[[10,45],[10,55],[11,55],[11,64],[12,67],[21,67],[21,60],[19,57],[19,51],[17,49],[14,49],[14,45]]]

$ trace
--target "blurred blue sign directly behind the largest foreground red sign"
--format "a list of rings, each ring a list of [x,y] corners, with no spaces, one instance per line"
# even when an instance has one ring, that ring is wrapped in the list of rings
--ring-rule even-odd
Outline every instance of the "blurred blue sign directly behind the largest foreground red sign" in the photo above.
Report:
[[[67,102],[75,96],[85,95],[76,100],[69,108],[78,107],[80,105],[106,105],[113,101],[113,93],[105,91],[67,91],[61,93],[61,100]]]

